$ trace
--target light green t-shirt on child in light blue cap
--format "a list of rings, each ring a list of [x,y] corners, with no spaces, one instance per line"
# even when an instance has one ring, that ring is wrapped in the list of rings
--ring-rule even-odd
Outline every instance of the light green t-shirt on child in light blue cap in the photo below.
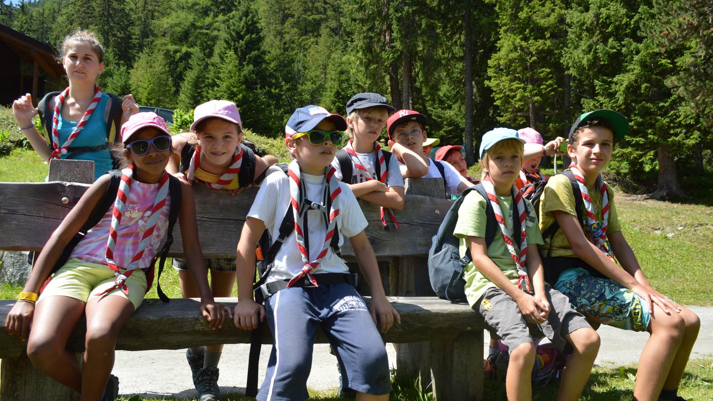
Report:
[[[511,196],[498,196],[498,203],[500,203],[500,207],[503,210],[503,217],[505,217],[508,230],[512,230],[513,214],[511,212],[511,204],[513,203],[513,198]],[[530,201],[525,200],[525,203],[528,208],[528,217],[525,219],[528,245],[541,245],[542,234],[540,233],[540,227],[537,223],[537,215],[535,215],[535,210]],[[466,195],[466,198],[463,199],[461,208],[458,209],[458,222],[456,223],[456,228],[453,230],[453,235],[461,238],[461,258],[466,255],[466,237],[485,238],[487,220],[486,200],[477,191],[471,191]],[[519,245],[520,244],[515,244],[515,251],[518,253]],[[493,243],[488,247],[488,258],[491,258],[493,263],[500,268],[511,283],[517,285],[518,269],[515,267],[515,261],[513,261],[512,256],[508,252],[499,227],[498,230],[496,230]],[[466,298],[468,298],[468,303],[471,306],[478,302],[488,288],[496,287],[480,270],[475,268],[472,262],[466,266],[463,278],[466,280]]]

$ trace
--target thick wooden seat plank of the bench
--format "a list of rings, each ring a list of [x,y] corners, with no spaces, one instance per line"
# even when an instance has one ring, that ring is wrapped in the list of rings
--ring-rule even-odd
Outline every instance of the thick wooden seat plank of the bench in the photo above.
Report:
[[[370,298],[365,298],[369,303]],[[220,302],[235,307],[236,298],[222,298]],[[456,340],[459,333],[482,329],[481,323],[468,305],[452,304],[433,297],[389,297],[391,305],[401,315],[401,324],[394,325],[384,335],[386,342],[414,342],[431,338]],[[24,352],[26,343],[4,330],[4,322],[14,301],[0,301],[0,358],[16,357]],[[235,328],[232,321],[220,330],[210,330],[198,313],[198,300],[175,299],[170,303],[144,300],[136,313],[121,330],[116,344],[118,350],[178,350],[194,345],[237,344],[250,342],[250,333]],[[86,327],[79,324],[71,335],[70,347],[83,350]],[[321,333],[321,330],[317,330]],[[272,342],[270,330],[265,330],[265,343]],[[317,338],[327,342],[326,338]]]

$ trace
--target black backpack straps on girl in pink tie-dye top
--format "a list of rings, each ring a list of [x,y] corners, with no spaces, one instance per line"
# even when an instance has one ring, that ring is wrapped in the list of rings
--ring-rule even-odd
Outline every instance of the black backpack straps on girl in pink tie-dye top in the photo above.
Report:
[[[107,173],[109,174],[109,185],[106,187],[106,191],[103,193],[101,199],[99,199],[96,206],[94,206],[86,222],[84,222],[79,231],[69,241],[64,250],[62,250],[62,254],[57,259],[57,262],[53,265],[52,270],[49,273],[49,278],[47,278],[47,280],[45,281],[44,285],[42,286],[42,289],[44,289],[47,283],[49,283],[49,280],[51,280],[52,275],[56,273],[56,271],[59,270],[63,265],[65,265],[65,263],[67,263],[67,260],[69,260],[69,257],[72,255],[72,251],[79,243],[79,241],[84,238],[87,231],[91,230],[91,228],[97,225],[104,217],[104,215],[106,215],[109,208],[114,205],[114,201],[116,200],[116,192],[119,189],[119,182],[121,181],[121,171],[111,170]],[[163,290],[161,290],[160,278],[161,273],[163,272],[163,265],[165,264],[166,256],[168,255],[168,250],[170,250],[171,245],[173,245],[173,225],[175,225],[176,218],[178,218],[178,211],[180,210],[181,184],[180,181],[178,181],[178,178],[175,178],[171,175],[168,176],[168,191],[170,193],[171,199],[170,208],[168,211],[168,236],[166,237],[165,243],[163,243],[163,247],[158,250],[158,253],[156,253],[154,260],[151,262],[151,265],[153,266],[156,262],[155,259],[158,258],[160,260],[158,264],[158,278],[156,278],[156,292],[158,293],[158,298],[160,298],[163,302],[168,302],[170,300],[168,296],[163,293]],[[153,268],[150,268],[146,273],[147,292],[148,290],[150,290],[151,285],[153,284],[153,278],[154,270]]]

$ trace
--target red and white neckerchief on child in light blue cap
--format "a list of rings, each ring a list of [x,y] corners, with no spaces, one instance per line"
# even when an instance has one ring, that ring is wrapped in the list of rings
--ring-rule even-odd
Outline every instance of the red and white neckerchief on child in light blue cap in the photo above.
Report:
[[[525,200],[520,191],[518,191],[518,188],[513,185],[513,198],[515,199],[515,204],[512,205],[511,208],[514,206],[517,207],[516,210],[518,211],[520,220],[520,255],[518,255],[515,252],[515,245],[513,245],[513,235],[510,230],[508,230],[508,226],[505,223],[503,210],[500,208],[500,202],[498,202],[498,196],[496,196],[495,193],[495,186],[493,186],[493,183],[486,178],[483,180],[483,187],[486,188],[488,199],[490,199],[491,205],[493,206],[493,213],[495,213],[495,219],[498,221],[498,225],[500,225],[501,233],[503,233],[505,246],[508,248],[508,252],[515,262],[515,267],[518,269],[518,288],[523,291],[530,291],[530,278],[528,277],[528,270],[525,268],[525,257],[528,251],[528,232],[527,222],[525,221],[528,216],[527,210],[525,210]],[[513,208],[513,212],[514,211],[515,209]]]

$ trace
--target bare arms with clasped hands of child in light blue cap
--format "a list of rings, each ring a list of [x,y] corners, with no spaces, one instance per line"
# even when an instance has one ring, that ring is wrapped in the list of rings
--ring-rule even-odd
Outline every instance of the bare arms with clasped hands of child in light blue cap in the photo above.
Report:
[[[493,260],[488,258],[488,248],[486,248],[485,238],[468,235],[466,243],[468,248],[471,250],[473,265],[480,270],[480,272],[483,273],[488,280],[497,285],[498,288],[503,290],[506,294],[510,295],[513,300],[515,300],[515,303],[518,304],[518,308],[520,308],[520,312],[523,313],[523,317],[528,323],[539,324],[544,323],[545,320],[547,320],[550,313],[550,305],[547,302],[544,292],[545,285],[543,280],[543,270],[539,257],[536,258],[536,260],[533,260],[533,262],[540,265],[540,268],[535,269],[535,274],[532,275],[533,286],[535,287],[535,296],[533,297],[511,283],[500,268],[493,263]],[[528,245],[528,251],[536,254],[537,245],[532,246],[534,247],[534,251],[532,250],[533,248],[529,248],[530,245]],[[530,255],[530,252],[528,252],[528,255]],[[530,257],[528,256],[528,258]]]

